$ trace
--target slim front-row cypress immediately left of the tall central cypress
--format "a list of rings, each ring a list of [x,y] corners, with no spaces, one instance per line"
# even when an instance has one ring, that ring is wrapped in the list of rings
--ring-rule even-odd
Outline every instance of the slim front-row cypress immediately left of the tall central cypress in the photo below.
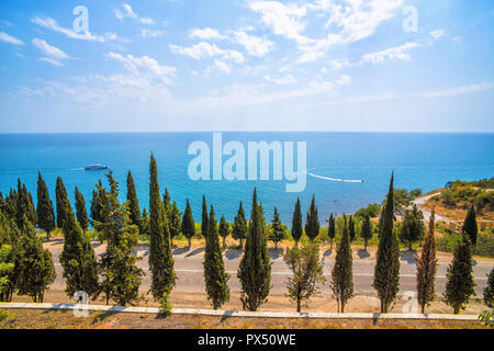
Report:
[[[225,222],[226,223],[226,222]],[[222,250],[220,249],[220,239],[216,219],[214,218],[214,208],[211,205],[210,219],[204,252],[204,282],[207,298],[213,308],[217,309],[229,299],[229,287],[227,281],[229,275],[225,272]]]

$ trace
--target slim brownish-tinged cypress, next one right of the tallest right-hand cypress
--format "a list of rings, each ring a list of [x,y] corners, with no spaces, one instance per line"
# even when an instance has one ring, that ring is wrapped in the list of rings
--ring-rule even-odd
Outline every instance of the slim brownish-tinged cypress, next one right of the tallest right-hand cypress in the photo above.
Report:
[[[426,306],[436,298],[435,283],[437,273],[436,238],[434,236],[435,213],[429,218],[429,227],[424,240],[424,249],[417,262],[417,299],[425,313]]]

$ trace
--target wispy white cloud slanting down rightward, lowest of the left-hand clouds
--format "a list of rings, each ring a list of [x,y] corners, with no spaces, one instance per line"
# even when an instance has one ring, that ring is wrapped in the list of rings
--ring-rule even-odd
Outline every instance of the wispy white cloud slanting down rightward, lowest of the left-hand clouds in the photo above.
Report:
[[[136,77],[144,75],[149,79],[156,78],[165,83],[170,83],[171,78],[175,77],[175,72],[177,71],[175,67],[160,66],[156,59],[148,56],[123,56],[113,52],[105,54],[105,56],[123,63],[124,67]]]

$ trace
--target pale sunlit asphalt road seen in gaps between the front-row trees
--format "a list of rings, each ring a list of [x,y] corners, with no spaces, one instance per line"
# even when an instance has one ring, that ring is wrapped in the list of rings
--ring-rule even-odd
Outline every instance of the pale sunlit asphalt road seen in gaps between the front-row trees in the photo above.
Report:
[[[57,273],[57,279],[54,286],[63,287],[64,280],[61,278],[61,267],[58,261],[58,256],[63,249],[63,241],[52,241],[49,244],[49,249],[52,251],[55,269]],[[94,249],[97,254],[100,254],[104,248],[99,244],[94,244]],[[279,252],[279,251],[278,251]],[[271,294],[283,295],[287,293],[285,282],[287,278],[291,275],[288,267],[284,264],[282,257],[274,250],[270,250],[272,258],[272,274],[271,282],[272,288]],[[203,278],[203,249],[192,248],[190,251],[187,249],[175,249],[175,269],[178,275],[177,285],[173,290],[175,293],[204,293],[204,278]],[[146,250],[138,250],[138,254],[143,256],[143,260],[138,262],[146,275],[143,276],[142,290],[148,290],[150,285],[150,276],[148,271],[147,254]],[[236,273],[238,263],[240,260],[242,252],[235,249],[227,249],[224,252],[225,268],[227,273],[231,274],[231,280],[228,285],[232,292],[240,291],[240,283],[237,280]],[[324,272],[328,281],[330,280],[330,271],[334,265],[335,252],[332,254],[324,252]],[[441,294],[446,286],[446,272],[448,264],[450,263],[451,256],[441,253],[439,256],[439,265],[436,280],[436,292]],[[487,278],[486,274],[491,272],[494,267],[494,261],[490,259],[480,259],[474,262],[474,280],[476,283],[476,294],[479,297],[482,296],[482,291],[486,285]],[[375,290],[372,287],[373,273],[374,273],[374,252],[370,248],[370,254],[364,251],[353,250],[353,284],[356,294],[375,294]],[[416,288],[416,261],[409,252],[404,252],[401,259],[400,267],[400,290],[415,291]],[[325,290],[329,287],[326,286]]]

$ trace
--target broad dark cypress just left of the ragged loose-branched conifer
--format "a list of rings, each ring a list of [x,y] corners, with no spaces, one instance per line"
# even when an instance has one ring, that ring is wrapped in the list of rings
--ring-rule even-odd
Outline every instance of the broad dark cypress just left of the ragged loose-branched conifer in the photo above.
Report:
[[[76,197],[77,192],[76,190]],[[94,250],[89,237],[85,235],[80,222],[76,222],[72,211],[69,211],[63,230],[64,250],[59,260],[66,281],[65,292],[69,298],[78,291],[94,296],[98,292],[98,263]]]

